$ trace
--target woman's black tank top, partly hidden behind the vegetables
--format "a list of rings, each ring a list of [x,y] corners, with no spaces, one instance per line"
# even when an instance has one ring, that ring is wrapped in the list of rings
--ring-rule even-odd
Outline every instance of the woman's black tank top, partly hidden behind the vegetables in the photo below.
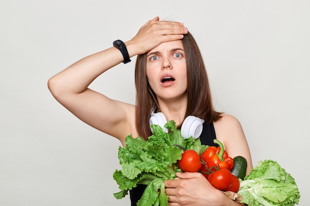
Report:
[[[211,124],[204,124],[203,131],[200,135],[200,141],[203,145],[215,146],[218,145],[213,142],[216,138],[215,130],[213,123]],[[132,190],[129,191],[131,206],[137,206],[137,202],[141,199],[144,190],[146,189],[147,185],[139,184],[137,187],[134,187]]]

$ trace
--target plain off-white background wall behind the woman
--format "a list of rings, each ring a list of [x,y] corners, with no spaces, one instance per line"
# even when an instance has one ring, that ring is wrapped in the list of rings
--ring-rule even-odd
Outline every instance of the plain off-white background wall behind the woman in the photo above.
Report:
[[[0,205],[124,206],[118,140],[56,102],[52,75],[128,41],[149,19],[181,21],[203,53],[214,103],[243,125],[259,160],[277,161],[309,206],[310,1],[7,0],[0,3]],[[133,62],[91,84],[135,102]],[[308,196],[308,197],[307,197]]]

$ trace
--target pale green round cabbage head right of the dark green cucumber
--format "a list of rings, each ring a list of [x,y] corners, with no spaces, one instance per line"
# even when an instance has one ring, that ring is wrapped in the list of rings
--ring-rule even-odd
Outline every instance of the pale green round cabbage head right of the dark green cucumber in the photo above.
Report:
[[[300,199],[295,179],[272,160],[259,161],[240,182],[238,194],[249,206],[294,206]]]

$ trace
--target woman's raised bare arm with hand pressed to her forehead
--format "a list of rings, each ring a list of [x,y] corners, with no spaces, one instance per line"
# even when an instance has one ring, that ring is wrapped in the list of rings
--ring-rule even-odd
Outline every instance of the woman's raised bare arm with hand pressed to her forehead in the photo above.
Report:
[[[178,22],[148,21],[126,41],[129,56],[145,53],[161,42],[179,40],[187,28]],[[48,82],[54,98],[80,120],[124,143],[128,134],[137,136],[135,106],[112,100],[88,88],[98,76],[123,61],[121,52],[110,47],[87,56],[54,75]]]

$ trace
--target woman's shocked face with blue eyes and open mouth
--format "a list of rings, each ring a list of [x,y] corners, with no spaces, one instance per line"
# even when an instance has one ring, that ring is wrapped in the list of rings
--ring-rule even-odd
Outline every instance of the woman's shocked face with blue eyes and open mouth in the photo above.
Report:
[[[187,70],[182,41],[161,43],[147,53],[147,77],[158,100],[187,98]]]

